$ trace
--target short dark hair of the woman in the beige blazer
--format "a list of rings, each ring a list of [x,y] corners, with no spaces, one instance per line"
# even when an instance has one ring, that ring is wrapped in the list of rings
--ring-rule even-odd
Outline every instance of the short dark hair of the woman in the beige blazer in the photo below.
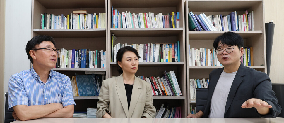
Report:
[[[135,50],[134,48],[132,48],[131,46],[126,46],[126,47],[123,47],[123,48],[120,48],[118,51],[117,51],[117,54],[116,54],[116,62],[120,61],[121,62],[121,59],[123,57],[123,54],[127,51],[130,51],[130,52],[133,52],[139,59],[140,59],[140,56],[137,52],[137,50]],[[118,65],[118,63],[117,63]],[[122,68],[119,66],[119,73],[122,74]]]

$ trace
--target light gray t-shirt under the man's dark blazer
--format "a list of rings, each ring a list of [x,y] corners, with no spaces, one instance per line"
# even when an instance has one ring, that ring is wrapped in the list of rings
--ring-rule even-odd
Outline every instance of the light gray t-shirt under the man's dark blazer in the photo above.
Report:
[[[212,95],[209,118],[224,118],[227,98],[236,74],[237,71],[226,73],[224,70],[221,73]]]

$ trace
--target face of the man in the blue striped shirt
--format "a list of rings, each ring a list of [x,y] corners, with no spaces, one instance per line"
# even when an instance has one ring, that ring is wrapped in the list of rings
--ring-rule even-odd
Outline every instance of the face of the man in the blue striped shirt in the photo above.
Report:
[[[56,49],[51,41],[43,41],[35,47],[38,48],[53,48]],[[46,49],[35,50],[35,58],[33,58],[33,64],[38,65],[40,68],[52,69],[56,65],[57,53],[55,51],[48,51]]]

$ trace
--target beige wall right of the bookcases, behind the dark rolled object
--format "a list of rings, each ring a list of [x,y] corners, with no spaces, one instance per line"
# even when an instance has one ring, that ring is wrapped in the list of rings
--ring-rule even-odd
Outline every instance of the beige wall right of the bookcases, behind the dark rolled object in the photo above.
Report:
[[[270,79],[272,83],[284,83],[284,1],[264,0],[265,22],[275,24],[270,66]]]

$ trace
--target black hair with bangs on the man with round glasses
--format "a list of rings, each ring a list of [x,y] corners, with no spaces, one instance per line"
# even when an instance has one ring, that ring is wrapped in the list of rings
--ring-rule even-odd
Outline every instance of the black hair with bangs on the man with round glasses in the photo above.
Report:
[[[215,50],[217,49],[219,42],[230,46],[238,46],[239,49],[244,46],[244,39],[239,34],[231,31],[224,32],[215,39],[213,43]]]

